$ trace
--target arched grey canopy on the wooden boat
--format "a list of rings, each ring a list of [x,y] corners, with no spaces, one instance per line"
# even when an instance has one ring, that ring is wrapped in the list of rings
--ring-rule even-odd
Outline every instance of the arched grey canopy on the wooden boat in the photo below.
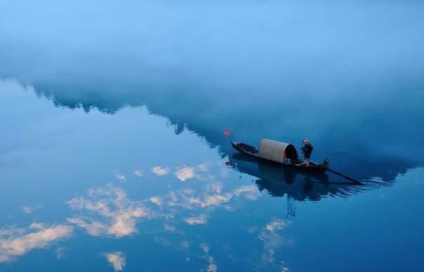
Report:
[[[284,163],[284,158],[297,160],[298,151],[293,144],[263,139],[259,142],[258,156],[277,163]]]

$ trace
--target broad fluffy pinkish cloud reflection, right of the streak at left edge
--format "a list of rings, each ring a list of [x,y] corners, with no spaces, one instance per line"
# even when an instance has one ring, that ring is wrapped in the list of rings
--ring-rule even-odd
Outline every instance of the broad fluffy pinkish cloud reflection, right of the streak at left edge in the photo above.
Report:
[[[137,231],[135,223],[149,215],[147,208],[138,201],[130,200],[126,193],[112,185],[89,189],[87,198],[72,198],[67,204],[73,210],[88,215],[70,217],[67,221],[85,229],[93,236],[127,236]]]

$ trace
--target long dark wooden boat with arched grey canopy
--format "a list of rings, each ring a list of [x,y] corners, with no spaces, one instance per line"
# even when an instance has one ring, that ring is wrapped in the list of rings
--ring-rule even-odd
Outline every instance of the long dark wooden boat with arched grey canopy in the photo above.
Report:
[[[293,144],[263,139],[259,143],[258,149],[249,144],[241,142],[231,142],[232,147],[241,154],[256,157],[260,160],[278,163],[280,165],[303,170],[324,172],[328,170],[328,159],[324,163],[318,164],[312,161],[303,160],[298,157],[298,152]]]

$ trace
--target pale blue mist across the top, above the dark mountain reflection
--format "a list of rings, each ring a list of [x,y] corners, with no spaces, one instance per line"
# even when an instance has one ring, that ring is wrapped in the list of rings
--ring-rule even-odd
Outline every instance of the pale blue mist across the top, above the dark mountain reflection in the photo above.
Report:
[[[140,81],[159,69],[223,87],[339,93],[420,80],[422,11],[418,1],[4,1],[1,46],[15,50],[1,56],[22,76]]]

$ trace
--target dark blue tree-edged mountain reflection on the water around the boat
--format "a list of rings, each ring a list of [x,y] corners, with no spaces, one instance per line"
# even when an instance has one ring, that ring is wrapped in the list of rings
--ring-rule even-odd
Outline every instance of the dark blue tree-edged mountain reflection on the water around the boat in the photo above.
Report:
[[[221,108],[219,111],[212,108],[213,113],[211,113],[209,112],[211,108],[206,107],[204,103],[221,107],[220,104],[226,104],[221,101],[222,99],[226,100],[225,96],[216,97],[215,99],[219,99],[216,102],[211,100],[213,97],[208,97],[208,101],[206,102],[203,97],[204,95],[202,97],[198,96],[199,92],[197,90],[195,92],[180,90],[180,92],[166,93],[165,95],[161,91],[154,93],[144,89],[131,91],[126,89],[122,93],[113,88],[111,90],[109,85],[94,89],[91,89],[91,86],[73,85],[72,90],[68,90],[67,88],[62,89],[61,85],[54,84],[53,86],[46,86],[41,84],[41,88],[37,88],[37,86],[31,86],[31,88],[38,97],[46,97],[48,100],[52,100],[57,107],[67,109],[82,108],[87,113],[92,109],[98,109],[105,114],[116,114],[119,110],[126,107],[142,107],[146,105],[150,114],[166,117],[168,122],[174,126],[176,135],[183,132],[183,130],[190,130],[204,139],[210,147],[218,147],[221,157],[228,156],[230,157],[230,162],[235,162],[233,163],[236,165],[235,170],[258,177],[259,179],[256,183],[260,191],[266,188],[272,196],[284,196],[284,193],[287,193],[288,196],[295,200],[319,200],[319,198],[326,195],[349,196],[352,193],[357,193],[364,189],[390,186],[397,175],[405,174],[407,170],[422,163],[422,156],[419,151],[414,153],[413,156],[396,153],[397,149],[403,148],[404,142],[411,142],[411,139],[408,139],[408,137],[416,137],[415,133],[411,135],[392,130],[391,135],[384,136],[387,140],[378,144],[378,139],[383,138],[380,135],[380,131],[388,130],[388,128],[375,130],[375,128],[369,127],[358,128],[355,123],[349,123],[347,125],[343,118],[341,120],[337,118],[338,114],[340,114],[338,107],[333,109],[333,118],[322,120],[323,131],[320,131],[312,123],[304,124],[301,118],[296,118],[299,121],[295,123],[287,120],[293,118],[293,116],[285,117],[286,113],[292,114],[299,107],[298,104],[292,101],[293,97],[296,97],[296,92],[283,96],[274,96],[273,98],[276,101],[271,105],[264,103],[262,107],[258,103],[260,97],[254,96],[249,98],[249,96],[244,95],[234,101],[236,103],[234,107],[237,111],[234,111],[232,107]],[[122,88],[122,86],[118,88]],[[395,94],[393,93],[392,95]],[[101,97],[101,100],[98,100],[98,97]],[[252,104],[252,102],[249,102],[249,99],[252,98],[258,103],[255,104],[254,110],[237,106],[237,102],[239,101],[243,104]],[[322,101],[318,99],[317,104],[319,104],[319,108],[330,107],[321,103]],[[331,103],[333,103],[333,100],[331,100]],[[284,105],[284,107],[279,107],[280,104]],[[319,114],[312,104],[310,104],[311,107],[302,107],[302,109],[299,109],[300,113],[303,116],[315,116]],[[361,104],[360,100],[358,104]],[[392,108],[395,104],[385,105],[385,107],[390,107],[390,110],[381,109],[381,106],[379,105],[379,110],[387,111],[388,115],[385,117],[387,119],[385,123],[391,126],[392,123],[388,123],[388,119],[392,117],[392,111],[395,111]],[[355,107],[359,108],[359,105],[351,105],[347,109],[348,112],[344,113],[347,114],[345,118],[349,120],[362,120],[362,122],[364,120],[371,121],[374,118],[372,111],[368,114],[366,112],[350,111],[350,109]],[[307,121],[310,121],[310,119],[307,118]],[[414,120],[413,118],[411,121],[413,122]],[[333,127],[340,128],[340,130],[326,132],[329,129],[329,121],[333,122]],[[419,120],[417,119],[417,121]],[[360,125],[363,124],[360,123]],[[408,125],[411,125],[410,122]],[[244,155],[237,154],[230,146],[230,140],[234,139],[234,137],[237,140],[254,142],[260,140],[261,137],[267,136],[278,140],[293,139],[293,142],[296,143],[303,138],[303,135],[300,135],[298,129],[305,130],[308,127],[311,130],[305,132],[304,135],[317,135],[317,140],[314,140],[315,157],[329,156],[332,167],[334,165],[336,169],[341,172],[350,173],[356,179],[369,181],[371,185],[359,189],[358,186],[350,186],[347,181],[343,182],[341,180],[340,182],[342,178],[335,175],[330,174],[329,177],[329,175],[324,173],[299,173],[297,170],[281,169],[275,167],[275,165],[268,165],[256,159],[246,158]],[[224,137],[223,130],[225,128],[231,129],[233,135],[230,138]],[[362,133],[354,132],[357,129]],[[422,127],[416,124],[416,130],[422,129]],[[359,139],[355,139],[353,135],[345,138],[345,134],[347,133],[345,130],[348,130],[350,134],[359,134]],[[390,143],[390,139],[394,137],[393,135],[401,137],[399,134],[402,135],[402,138],[406,138],[406,140],[394,140],[393,143]],[[297,137],[294,135],[297,135]],[[329,142],[326,139],[327,137],[338,140]],[[310,138],[314,139],[313,136]],[[399,142],[402,142],[402,144],[399,144]],[[418,143],[412,142],[411,144],[414,144],[416,149],[422,148]],[[387,146],[392,147],[392,151],[388,150],[387,153]],[[298,179],[296,179],[296,175],[298,175]],[[313,183],[311,179],[319,183]]]

